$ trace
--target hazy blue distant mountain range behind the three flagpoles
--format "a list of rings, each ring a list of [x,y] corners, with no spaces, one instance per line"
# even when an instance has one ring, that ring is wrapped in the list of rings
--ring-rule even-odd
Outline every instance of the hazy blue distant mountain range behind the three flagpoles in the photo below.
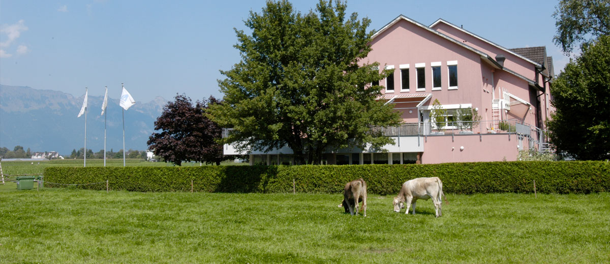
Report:
[[[62,91],[0,84],[0,147],[20,145],[34,151],[70,154],[84,147],[85,116],[77,118],[84,96]],[[87,108],[87,149],[104,149],[103,96],[89,96]],[[123,148],[123,119],[118,99],[108,99],[106,149]],[[125,111],[125,148],[144,150],[154,121],[168,101],[157,97],[136,102]]]

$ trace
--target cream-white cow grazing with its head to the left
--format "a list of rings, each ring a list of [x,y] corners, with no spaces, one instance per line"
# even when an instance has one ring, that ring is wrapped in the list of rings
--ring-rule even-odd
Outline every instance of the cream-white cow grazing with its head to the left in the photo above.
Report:
[[[392,202],[394,205],[394,212],[400,212],[400,209],[404,208],[404,204],[406,204],[407,210],[404,213],[408,214],[409,207],[413,204],[413,214],[415,215],[415,202],[417,202],[417,199],[428,200],[432,198],[436,217],[442,216],[441,205],[442,196],[444,195],[443,183],[440,181],[439,177],[407,180],[404,182],[403,187],[400,188],[398,196],[396,196]]]

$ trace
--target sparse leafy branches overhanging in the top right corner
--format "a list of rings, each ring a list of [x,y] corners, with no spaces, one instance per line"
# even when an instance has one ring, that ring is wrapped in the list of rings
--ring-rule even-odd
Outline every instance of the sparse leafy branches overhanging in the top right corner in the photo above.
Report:
[[[561,0],[553,13],[557,35],[556,45],[566,53],[580,42],[610,35],[610,1]]]

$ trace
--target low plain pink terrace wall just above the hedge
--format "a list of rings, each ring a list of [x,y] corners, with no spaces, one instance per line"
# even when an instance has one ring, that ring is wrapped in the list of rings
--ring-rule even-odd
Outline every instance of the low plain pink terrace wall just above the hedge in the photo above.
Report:
[[[453,137],[431,136],[424,143],[423,164],[445,162],[497,162],[517,160],[519,149],[516,135],[484,134],[479,141],[478,135],[456,135]],[[525,143],[526,141],[524,141]],[[464,146],[461,151],[460,147]],[[452,149],[453,148],[453,149]]]

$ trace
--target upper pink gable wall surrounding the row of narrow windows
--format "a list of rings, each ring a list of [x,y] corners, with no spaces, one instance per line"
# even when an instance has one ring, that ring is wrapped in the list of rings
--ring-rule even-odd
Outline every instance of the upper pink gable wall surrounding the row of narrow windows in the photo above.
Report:
[[[400,65],[409,64],[410,91],[408,93],[432,93],[432,98],[425,105],[431,105],[434,99],[439,99],[441,104],[472,104],[473,107],[483,108],[481,57],[475,52],[462,48],[406,20],[398,21],[376,36],[371,41],[371,46],[373,51],[363,62],[379,62],[380,68],[384,68],[384,65],[393,65],[395,68],[395,92],[387,93],[387,95],[403,94],[400,91]],[[458,61],[458,89],[448,90],[447,62],[453,60]],[[441,62],[440,91],[432,91],[432,62]],[[415,91],[417,89],[416,63],[426,63],[425,91]],[[384,85],[386,81],[381,80],[379,83]],[[404,120],[406,122],[417,121],[417,115],[403,115],[403,118],[406,118]]]

